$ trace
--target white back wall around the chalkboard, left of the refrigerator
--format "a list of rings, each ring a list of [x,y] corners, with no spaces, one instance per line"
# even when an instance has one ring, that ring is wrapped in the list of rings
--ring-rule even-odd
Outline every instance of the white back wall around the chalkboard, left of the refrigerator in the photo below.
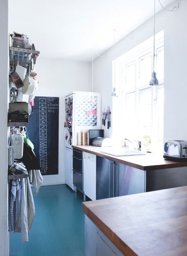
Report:
[[[59,174],[43,176],[43,185],[65,183],[64,177],[64,121],[65,95],[72,91],[88,91],[91,88],[91,65],[85,62],[61,61],[42,58],[42,49],[35,72],[39,79],[36,96],[59,97]],[[55,133],[55,131],[54,131]]]

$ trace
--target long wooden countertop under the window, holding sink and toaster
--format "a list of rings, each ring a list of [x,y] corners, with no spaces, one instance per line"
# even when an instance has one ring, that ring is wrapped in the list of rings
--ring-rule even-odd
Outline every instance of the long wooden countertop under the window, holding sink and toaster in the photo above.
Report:
[[[174,167],[183,167],[187,166],[187,162],[177,162],[166,160],[162,155],[140,155],[140,156],[122,156],[116,157],[108,154],[101,153],[103,147],[98,146],[72,146],[77,150],[88,152],[100,157],[107,158],[112,161],[116,161],[128,166],[132,166],[141,170],[154,170],[154,169],[165,169],[165,168],[174,168]]]

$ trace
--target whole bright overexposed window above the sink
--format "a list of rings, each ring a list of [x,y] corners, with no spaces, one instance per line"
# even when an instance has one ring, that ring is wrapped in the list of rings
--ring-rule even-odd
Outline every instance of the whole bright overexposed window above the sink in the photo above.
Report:
[[[122,125],[120,127],[121,136],[119,135],[119,137],[123,139],[125,136],[132,140],[141,140],[142,151],[153,152],[155,149],[157,151],[158,145],[162,145],[163,147],[163,36],[164,32],[159,32],[156,35],[155,41],[154,71],[159,81],[158,86],[150,87],[149,85],[153,71],[152,38],[126,52],[117,60],[120,64],[117,66],[117,70],[119,71],[119,88],[121,94],[119,94],[118,103],[117,100],[115,101],[118,108],[116,108],[114,115],[117,115],[119,120],[122,119]],[[115,134],[118,134],[118,128],[115,129]]]

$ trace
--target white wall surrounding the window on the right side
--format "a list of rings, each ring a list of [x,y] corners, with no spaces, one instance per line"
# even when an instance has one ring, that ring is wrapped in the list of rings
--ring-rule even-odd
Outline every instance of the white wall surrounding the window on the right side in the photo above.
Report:
[[[171,4],[168,9],[179,3],[179,9],[173,12],[163,10],[155,17],[155,32],[164,29],[165,48],[165,105],[164,105],[164,141],[169,139],[187,140],[187,118],[186,118],[186,60],[187,60],[187,1],[179,0]],[[116,44],[118,57],[133,47],[140,44],[153,35],[153,18],[148,20],[140,28],[133,31],[133,39],[122,39]],[[114,59],[114,47],[109,49],[105,57],[94,61],[94,90],[102,93],[102,109],[108,104],[112,105],[112,60]],[[117,85],[116,85],[117,87]],[[113,109],[112,109],[113,114]],[[112,116],[113,117],[113,116]],[[112,128],[105,135],[112,136],[112,129],[120,132],[119,123],[112,123]],[[116,127],[116,130],[115,130]]]

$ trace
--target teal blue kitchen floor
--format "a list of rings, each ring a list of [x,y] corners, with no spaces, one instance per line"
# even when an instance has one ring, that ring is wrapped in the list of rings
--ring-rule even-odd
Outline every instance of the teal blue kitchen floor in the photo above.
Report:
[[[83,194],[67,185],[42,186],[34,197],[35,217],[29,242],[10,233],[10,256],[83,256]]]

